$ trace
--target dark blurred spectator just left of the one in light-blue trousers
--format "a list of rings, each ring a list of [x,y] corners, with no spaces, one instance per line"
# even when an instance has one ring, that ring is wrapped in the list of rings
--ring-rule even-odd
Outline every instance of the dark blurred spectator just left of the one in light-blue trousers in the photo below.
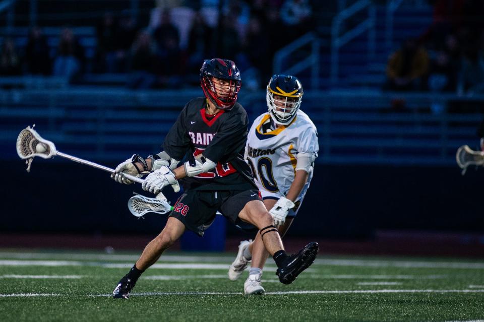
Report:
[[[27,73],[49,75],[52,72],[49,51],[47,37],[42,34],[42,29],[32,28],[25,48]]]

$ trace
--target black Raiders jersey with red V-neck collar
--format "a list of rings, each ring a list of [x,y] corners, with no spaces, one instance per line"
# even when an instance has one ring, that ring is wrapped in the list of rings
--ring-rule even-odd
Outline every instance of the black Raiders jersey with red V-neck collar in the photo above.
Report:
[[[195,156],[217,163],[210,172],[180,179],[184,189],[246,190],[256,185],[249,165],[244,161],[247,141],[247,112],[235,103],[231,110],[206,114],[205,97],[188,102],[170,128],[163,150],[176,160],[187,157],[191,164]]]

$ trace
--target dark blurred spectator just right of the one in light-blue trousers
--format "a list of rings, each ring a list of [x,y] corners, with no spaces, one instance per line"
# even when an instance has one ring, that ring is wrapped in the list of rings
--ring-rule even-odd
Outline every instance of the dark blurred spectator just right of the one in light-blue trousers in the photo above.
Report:
[[[96,28],[97,52],[96,67],[98,73],[116,72],[116,33],[117,22],[111,12],[107,12],[102,17]]]

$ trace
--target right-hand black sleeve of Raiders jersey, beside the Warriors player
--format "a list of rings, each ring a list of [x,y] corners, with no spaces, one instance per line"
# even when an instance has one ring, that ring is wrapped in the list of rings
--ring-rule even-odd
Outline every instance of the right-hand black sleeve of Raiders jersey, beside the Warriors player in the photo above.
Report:
[[[237,113],[227,119],[203,151],[203,156],[215,163],[226,163],[235,158],[246,147],[248,122],[246,113]]]

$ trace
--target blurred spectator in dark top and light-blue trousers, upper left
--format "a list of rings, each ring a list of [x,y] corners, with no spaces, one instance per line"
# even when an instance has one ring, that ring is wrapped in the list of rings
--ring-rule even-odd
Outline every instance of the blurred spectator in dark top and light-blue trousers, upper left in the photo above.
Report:
[[[74,36],[72,29],[64,28],[59,40],[57,56],[54,59],[54,76],[65,76],[69,80],[82,72],[84,49]]]

